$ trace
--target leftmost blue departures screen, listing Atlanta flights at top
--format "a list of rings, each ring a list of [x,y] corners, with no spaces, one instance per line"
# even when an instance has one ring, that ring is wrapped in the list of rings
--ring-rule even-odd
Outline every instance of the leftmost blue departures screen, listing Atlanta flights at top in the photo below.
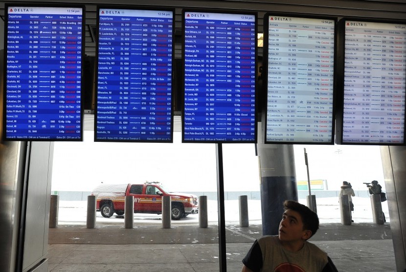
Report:
[[[5,7],[7,140],[82,140],[83,7]]]

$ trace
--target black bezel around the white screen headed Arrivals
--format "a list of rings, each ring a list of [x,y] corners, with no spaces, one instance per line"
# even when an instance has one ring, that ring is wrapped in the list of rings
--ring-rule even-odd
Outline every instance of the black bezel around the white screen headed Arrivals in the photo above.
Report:
[[[318,141],[269,141],[267,140],[267,106],[268,106],[268,58],[269,58],[269,18],[270,16],[283,16],[283,17],[293,17],[293,18],[303,18],[303,19],[320,19],[320,20],[331,20],[335,22],[334,26],[334,76],[333,76],[333,110],[331,114],[332,128],[331,128],[331,138],[327,142]],[[287,13],[287,12],[267,12],[264,15],[264,69],[263,69],[263,104],[262,106],[262,140],[266,144],[317,144],[317,145],[333,145],[335,137],[335,115],[337,108],[337,64],[338,64],[338,41],[337,41],[337,24],[338,19],[334,16],[325,15],[309,15],[301,13]]]

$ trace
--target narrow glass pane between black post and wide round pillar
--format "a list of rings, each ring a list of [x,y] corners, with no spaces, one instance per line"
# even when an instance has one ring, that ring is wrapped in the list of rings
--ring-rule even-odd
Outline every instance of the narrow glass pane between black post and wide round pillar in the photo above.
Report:
[[[262,236],[260,180],[255,145],[223,144],[223,160],[227,271],[241,271],[242,259],[255,239]],[[243,205],[248,206],[248,227],[240,226],[240,199]],[[246,220],[242,219],[244,226]]]

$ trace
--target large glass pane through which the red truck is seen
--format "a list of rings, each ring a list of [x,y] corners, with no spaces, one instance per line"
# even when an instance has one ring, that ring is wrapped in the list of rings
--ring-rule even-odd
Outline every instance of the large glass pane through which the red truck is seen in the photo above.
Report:
[[[93,142],[93,131],[85,131],[84,142],[55,142],[51,190],[59,195],[59,218],[49,231],[50,269],[103,271],[108,263],[117,271],[218,271],[215,145],[180,141],[175,132],[174,143]],[[85,228],[87,196],[96,187],[108,185],[99,196],[117,204],[127,184],[145,182],[171,194],[172,202],[207,196],[208,227],[199,228],[199,214],[186,214],[192,209],[184,204],[182,218],[163,228],[159,196],[142,192],[135,207],[143,205],[145,213],[134,214],[134,228],[124,227],[119,208],[111,217],[97,211],[96,227]],[[124,189],[114,191],[119,184]]]

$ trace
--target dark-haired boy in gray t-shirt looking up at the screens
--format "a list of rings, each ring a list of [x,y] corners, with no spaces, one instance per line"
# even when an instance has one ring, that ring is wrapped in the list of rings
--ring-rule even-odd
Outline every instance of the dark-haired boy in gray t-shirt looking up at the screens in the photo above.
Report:
[[[307,242],[318,229],[318,217],[296,201],[284,202],[278,236],[256,240],[243,259],[242,272],[337,272],[321,249]]]

